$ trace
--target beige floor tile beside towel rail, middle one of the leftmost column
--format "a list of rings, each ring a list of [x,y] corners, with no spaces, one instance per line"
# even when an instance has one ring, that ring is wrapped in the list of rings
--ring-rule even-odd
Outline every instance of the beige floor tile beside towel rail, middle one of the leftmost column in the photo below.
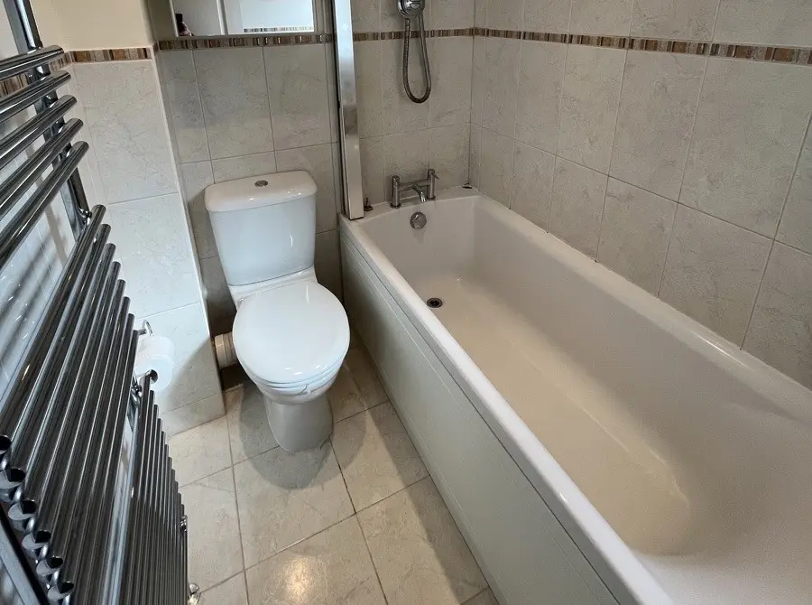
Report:
[[[201,590],[243,571],[232,470],[180,489],[189,517],[189,582]]]

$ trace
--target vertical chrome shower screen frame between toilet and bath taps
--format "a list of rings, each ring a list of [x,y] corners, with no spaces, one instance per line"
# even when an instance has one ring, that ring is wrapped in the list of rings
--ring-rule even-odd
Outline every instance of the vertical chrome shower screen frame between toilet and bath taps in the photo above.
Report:
[[[364,182],[358,136],[358,96],[355,88],[355,49],[350,0],[332,0],[338,96],[338,140],[344,183],[344,214],[364,218]],[[383,201],[383,200],[373,200]]]

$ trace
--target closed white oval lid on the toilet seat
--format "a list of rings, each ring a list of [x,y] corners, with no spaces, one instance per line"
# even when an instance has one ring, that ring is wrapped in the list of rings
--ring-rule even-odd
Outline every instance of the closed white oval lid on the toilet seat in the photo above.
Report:
[[[249,296],[234,321],[234,348],[249,375],[269,385],[300,385],[336,368],[349,348],[341,302],[315,282]]]

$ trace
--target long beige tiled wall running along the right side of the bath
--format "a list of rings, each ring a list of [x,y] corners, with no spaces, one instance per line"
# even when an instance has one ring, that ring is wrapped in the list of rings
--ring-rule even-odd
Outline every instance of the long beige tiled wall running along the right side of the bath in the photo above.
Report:
[[[476,25],[808,48],[812,3],[479,0]],[[812,66],[776,62],[809,53],[497,35],[475,38],[474,184],[812,386]]]

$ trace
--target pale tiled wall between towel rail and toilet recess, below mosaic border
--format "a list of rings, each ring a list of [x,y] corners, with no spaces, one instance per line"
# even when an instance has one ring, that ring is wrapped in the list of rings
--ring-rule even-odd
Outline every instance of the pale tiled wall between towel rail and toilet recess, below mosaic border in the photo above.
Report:
[[[83,181],[107,207],[136,325],[149,321],[176,349],[175,379],[156,396],[167,433],[224,414],[189,219],[172,162],[155,61],[69,67],[91,153]]]

